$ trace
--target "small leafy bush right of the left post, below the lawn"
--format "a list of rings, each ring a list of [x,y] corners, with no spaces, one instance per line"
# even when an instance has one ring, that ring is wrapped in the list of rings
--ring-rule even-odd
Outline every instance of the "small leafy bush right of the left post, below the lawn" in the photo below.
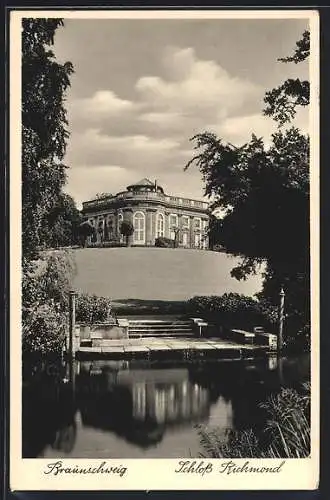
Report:
[[[108,297],[81,294],[76,302],[76,321],[78,323],[105,323],[111,318],[111,301]]]

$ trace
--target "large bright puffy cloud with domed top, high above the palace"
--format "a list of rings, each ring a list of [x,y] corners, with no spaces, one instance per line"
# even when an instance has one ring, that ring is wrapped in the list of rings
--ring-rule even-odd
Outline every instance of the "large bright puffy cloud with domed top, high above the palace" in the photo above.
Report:
[[[135,85],[153,111],[219,119],[260,92],[257,85],[231,76],[214,61],[197,59],[192,48],[168,48],[163,64],[168,78],[144,76]]]

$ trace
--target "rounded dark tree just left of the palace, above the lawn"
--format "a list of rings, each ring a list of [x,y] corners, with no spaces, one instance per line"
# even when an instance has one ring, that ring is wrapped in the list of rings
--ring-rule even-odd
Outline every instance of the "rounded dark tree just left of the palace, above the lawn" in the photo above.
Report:
[[[56,205],[42,222],[40,234],[47,247],[64,247],[78,244],[82,216],[71,196],[60,193]]]

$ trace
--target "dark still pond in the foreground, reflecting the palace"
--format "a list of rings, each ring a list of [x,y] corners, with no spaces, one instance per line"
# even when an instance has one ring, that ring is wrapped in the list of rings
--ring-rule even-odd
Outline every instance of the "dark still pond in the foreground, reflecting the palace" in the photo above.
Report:
[[[309,380],[309,356],[25,366],[24,458],[197,457],[197,424],[258,428],[258,404]]]

